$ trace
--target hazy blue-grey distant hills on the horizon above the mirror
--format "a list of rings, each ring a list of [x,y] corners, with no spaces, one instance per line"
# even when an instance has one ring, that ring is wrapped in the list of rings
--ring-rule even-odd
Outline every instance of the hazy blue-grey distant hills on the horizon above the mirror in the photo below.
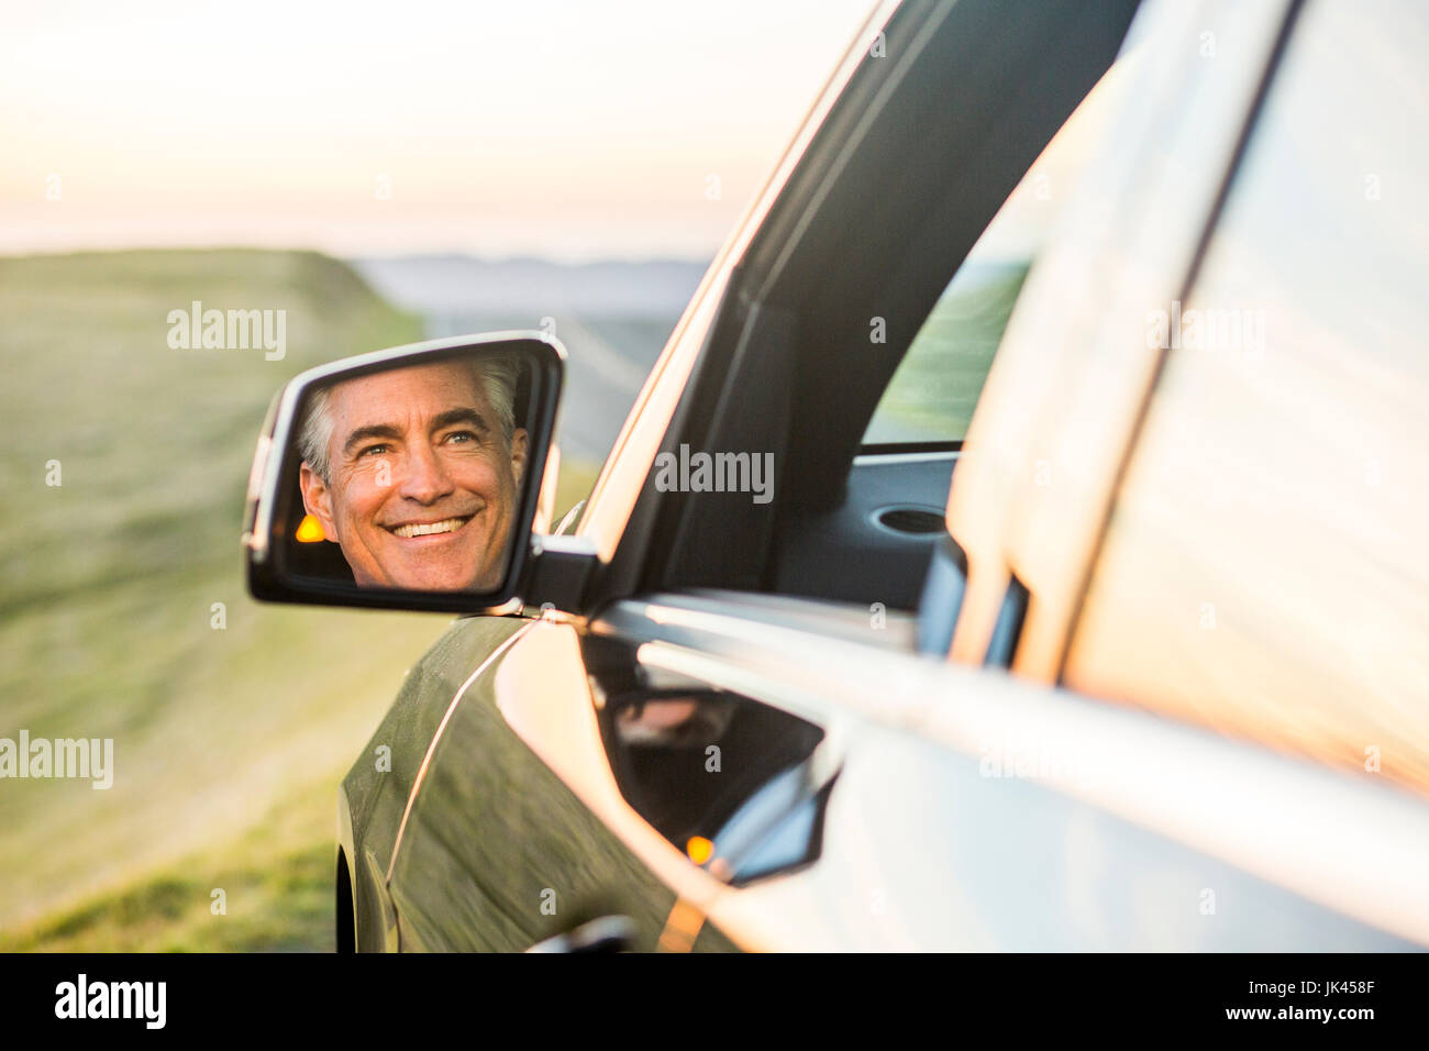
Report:
[[[707,263],[553,263],[472,256],[349,260],[399,306],[424,312],[677,317]]]

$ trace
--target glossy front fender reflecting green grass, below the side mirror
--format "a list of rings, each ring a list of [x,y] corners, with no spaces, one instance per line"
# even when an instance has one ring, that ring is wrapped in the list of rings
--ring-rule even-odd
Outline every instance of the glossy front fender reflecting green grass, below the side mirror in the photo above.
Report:
[[[472,678],[432,749],[390,877],[400,947],[523,951],[592,919],[624,917],[630,947],[653,949],[674,894],[503,711],[512,691],[582,699],[579,678],[553,678],[570,669],[552,666],[542,642],[527,645],[563,629],[524,626]]]

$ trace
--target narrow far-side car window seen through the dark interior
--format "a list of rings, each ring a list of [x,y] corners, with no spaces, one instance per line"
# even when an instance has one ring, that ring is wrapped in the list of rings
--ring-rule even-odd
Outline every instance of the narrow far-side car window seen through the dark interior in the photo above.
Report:
[[[1027,270],[1130,79],[1127,59],[1123,53],[1072,112],[957,267],[883,392],[863,445],[963,440]]]

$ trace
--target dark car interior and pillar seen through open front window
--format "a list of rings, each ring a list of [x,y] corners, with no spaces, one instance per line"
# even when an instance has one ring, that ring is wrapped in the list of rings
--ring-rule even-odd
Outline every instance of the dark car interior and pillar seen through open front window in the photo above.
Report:
[[[667,449],[773,452],[776,499],[647,488],[646,589],[915,611],[933,578],[960,586],[942,525],[957,443],[863,436],[929,310],[1110,66],[1135,9],[900,9],[887,57],[863,60],[736,272],[733,309],[666,436]],[[883,345],[870,343],[872,317],[886,322]]]

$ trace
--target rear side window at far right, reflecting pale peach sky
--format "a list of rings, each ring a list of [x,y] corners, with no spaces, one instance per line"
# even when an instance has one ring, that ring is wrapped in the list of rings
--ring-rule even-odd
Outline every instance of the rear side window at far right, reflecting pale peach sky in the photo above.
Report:
[[[1063,681],[1425,789],[1429,9],[1378,6],[1303,9],[1192,293],[1147,315]]]

